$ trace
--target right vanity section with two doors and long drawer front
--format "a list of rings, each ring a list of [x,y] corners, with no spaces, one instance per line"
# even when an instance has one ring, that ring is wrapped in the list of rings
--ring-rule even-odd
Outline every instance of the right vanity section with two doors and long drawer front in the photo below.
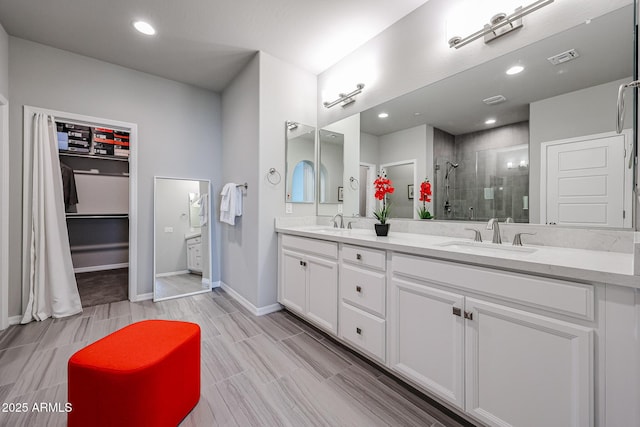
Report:
[[[391,369],[487,425],[594,425],[593,287],[397,253],[391,264]]]

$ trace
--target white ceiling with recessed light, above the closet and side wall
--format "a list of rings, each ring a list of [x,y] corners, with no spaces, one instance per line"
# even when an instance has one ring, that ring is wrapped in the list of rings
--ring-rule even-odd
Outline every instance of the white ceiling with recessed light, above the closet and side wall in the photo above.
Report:
[[[256,51],[314,74],[427,0],[0,0],[12,36],[220,91]],[[144,19],[154,37],[131,26]]]

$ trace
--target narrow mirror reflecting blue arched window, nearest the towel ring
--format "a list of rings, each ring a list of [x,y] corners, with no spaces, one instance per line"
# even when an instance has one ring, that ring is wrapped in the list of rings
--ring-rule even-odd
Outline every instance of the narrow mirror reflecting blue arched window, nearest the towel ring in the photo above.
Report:
[[[287,203],[315,203],[316,128],[286,122],[286,194]]]

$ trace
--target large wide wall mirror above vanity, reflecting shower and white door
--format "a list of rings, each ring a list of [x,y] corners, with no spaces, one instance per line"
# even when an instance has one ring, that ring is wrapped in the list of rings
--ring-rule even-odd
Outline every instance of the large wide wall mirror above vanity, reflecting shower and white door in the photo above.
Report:
[[[417,159],[437,220],[630,228],[633,108],[615,127],[633,79],[629,4],[360,113],[358,166]]]

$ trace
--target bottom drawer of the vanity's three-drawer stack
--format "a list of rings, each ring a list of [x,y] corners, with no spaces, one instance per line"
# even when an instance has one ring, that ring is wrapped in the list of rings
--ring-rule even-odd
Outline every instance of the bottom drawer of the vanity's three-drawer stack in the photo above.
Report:
[[[342,302],[340,337],[376,359],[385,361],[385,321],[381,318]]]

